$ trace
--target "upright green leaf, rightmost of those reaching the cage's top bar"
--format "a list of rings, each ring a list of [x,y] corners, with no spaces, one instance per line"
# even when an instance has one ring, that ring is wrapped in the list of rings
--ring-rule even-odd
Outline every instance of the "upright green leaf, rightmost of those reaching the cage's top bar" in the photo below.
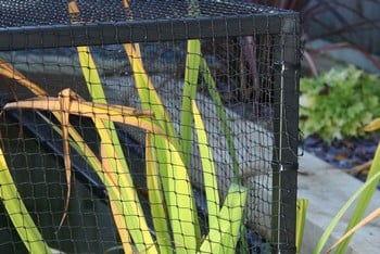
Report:
[[[182,106],[180,118],[180,137],[186,166],[190,166],[190,153],[192,142],[192,105],[191,101],[195,99],[199,67],[201,61],[201,42],[200,40],[188,40],[188,53],[186,56],[185,80],[182,92]]]

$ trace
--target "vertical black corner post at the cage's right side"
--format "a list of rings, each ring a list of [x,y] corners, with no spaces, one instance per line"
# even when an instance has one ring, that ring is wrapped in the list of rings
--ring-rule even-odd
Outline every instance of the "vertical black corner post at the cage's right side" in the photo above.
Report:
[[[275,39],[273,253],[295,253],[300,17],[282,17]]]

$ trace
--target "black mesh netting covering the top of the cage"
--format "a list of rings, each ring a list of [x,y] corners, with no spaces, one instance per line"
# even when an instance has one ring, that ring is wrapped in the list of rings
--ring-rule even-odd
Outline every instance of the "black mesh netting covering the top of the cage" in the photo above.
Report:
[[[193,16],[190,1],[78,1],[81,22],[125,22],[126,20],[183,18]],[[194,1],[198,17],[287,13],[262,5],[228,1]],[[67,1],[0,1],[1,27],[69,25]]]

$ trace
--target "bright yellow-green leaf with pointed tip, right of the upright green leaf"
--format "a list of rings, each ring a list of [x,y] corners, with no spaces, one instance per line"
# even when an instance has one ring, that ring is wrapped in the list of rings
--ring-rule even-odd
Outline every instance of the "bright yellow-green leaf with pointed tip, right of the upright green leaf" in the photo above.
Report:
[[[192,112],[194,117],[194,127],[198,139],[198,147],[200,150],[200,157],[203,168],[203,181],[204,181],[204,191],[206,193],[207,200],[207,214],[208,214],[208,224],[217,226],[217,220],[219,217],[219,193],[218,185],[216,179],[216,172],[213,158],[213,152],[208,145],[206,130],[204,128],[204,123],[202,120],[201,114],[198,110],[197,103],[192,101]],[[218,230],[218,228],[216,228]]]

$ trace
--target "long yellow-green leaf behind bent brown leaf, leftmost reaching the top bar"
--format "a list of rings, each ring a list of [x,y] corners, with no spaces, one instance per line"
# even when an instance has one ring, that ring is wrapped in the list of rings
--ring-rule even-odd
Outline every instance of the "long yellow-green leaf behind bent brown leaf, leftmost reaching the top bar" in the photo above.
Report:
[[[74,15],[74,18],[75,15],[80,14],[75,1],[68,3],[68,11]],[[75,23],[75,20],[73,20],[73,23]],[[106,104],[101,79],[90,54],[89,47],[77,47],[77,51],[83,74],[93,102]],[[137,250],[140,252],[145,251],[147,245],[152,245],[154,242],[144,219],[115,126],[113,122],[107,119],[93,118],[93,122],[102,140],[103,165],[109,165],[109,170],[114,170],[113,174],[115,174],[114,177],[116,177],[118,186],[115,188],[121,188],[122,201],[128,202],[126,206],[127,213],[123,213],[123,215],[125,216],[129,233],[135,241]],[[154,251],[155,249],[150,249],[151,253]]]

